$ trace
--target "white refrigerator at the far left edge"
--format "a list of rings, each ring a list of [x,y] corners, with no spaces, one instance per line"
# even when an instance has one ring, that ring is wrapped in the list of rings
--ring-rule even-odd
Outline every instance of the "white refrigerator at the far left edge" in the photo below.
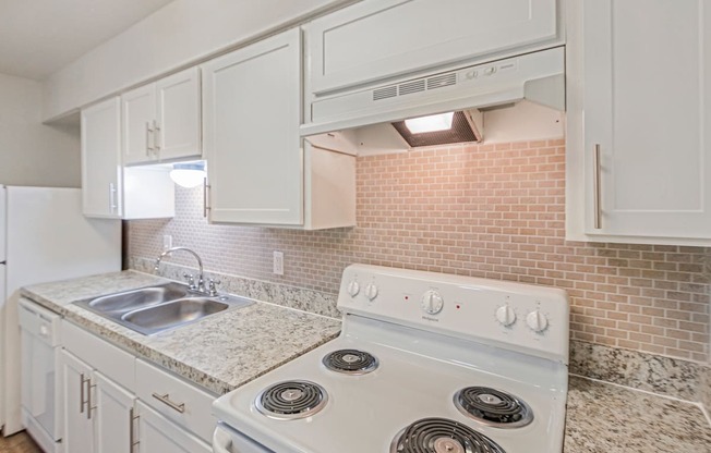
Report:
[[[87,219],[79,188],[0,185],[0,426],[21,430],[19,290],[121,269],[121,221]]]

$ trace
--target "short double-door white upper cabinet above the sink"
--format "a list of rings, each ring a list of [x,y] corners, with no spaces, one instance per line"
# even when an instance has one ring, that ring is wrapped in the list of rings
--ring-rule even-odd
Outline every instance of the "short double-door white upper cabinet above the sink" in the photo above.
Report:
[[[121,96],[123,163],[201,158],[200,68]]]

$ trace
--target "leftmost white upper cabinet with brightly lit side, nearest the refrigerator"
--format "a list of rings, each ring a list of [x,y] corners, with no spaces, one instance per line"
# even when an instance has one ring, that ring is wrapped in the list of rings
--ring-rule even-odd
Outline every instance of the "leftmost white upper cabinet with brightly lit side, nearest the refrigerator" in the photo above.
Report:
[[[119,97],[82,110],[82,206],[86,217],[173,217],[174,185],[169,167],[121,164]]]

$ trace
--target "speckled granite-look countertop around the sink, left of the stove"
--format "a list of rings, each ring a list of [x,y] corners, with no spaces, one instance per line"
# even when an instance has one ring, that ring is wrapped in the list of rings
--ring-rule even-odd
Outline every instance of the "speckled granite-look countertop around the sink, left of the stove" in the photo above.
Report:
[[[135,271],[23,287],[22,295],[109,342],[224,394],[336,338],[340,321],[268,303],[254,304],[146,336],[73,302],[167,283]]]

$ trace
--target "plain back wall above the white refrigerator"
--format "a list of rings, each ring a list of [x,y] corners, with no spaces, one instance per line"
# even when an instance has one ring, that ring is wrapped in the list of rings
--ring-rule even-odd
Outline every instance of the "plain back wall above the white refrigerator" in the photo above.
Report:
[[[79,187],[77,128],[41,124],[41,85],[0,74],[0,184]]]

